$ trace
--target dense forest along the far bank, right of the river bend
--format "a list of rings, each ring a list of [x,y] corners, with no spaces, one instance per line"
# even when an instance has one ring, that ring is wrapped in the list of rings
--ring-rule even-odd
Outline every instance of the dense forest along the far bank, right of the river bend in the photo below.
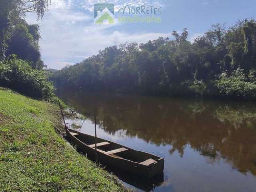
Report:
[[[54,78],[57,87],[166,96],[256,97],[256,21],[217,24],[193,42],[188,30],[101,50]]]

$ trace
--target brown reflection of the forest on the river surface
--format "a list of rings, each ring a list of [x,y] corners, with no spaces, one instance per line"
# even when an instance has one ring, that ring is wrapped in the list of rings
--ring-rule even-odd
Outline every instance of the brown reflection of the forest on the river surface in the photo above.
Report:
[[[84,114],[96,105],[100,126],[110,134],[123,129],[130,137],[170,144],[170,153],[180,156],[189,144],[213,162],[226,158],[241,172],[256,175],[256,110],[250,104],[92,93],[69,99]]]

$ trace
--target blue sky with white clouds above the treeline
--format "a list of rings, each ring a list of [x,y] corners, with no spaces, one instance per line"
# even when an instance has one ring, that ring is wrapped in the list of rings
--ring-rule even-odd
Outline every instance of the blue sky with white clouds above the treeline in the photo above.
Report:
[[[114,24],[94,24],[94,4],[113,3]],[[120,23],[119,8],[162,8],[160,23]],[[256,17],[255,0],[52,0],[43,20],[29,13],[26,21],[40,26],[42,60],[48,68],[61,69],[98,54],[108,46],[125,42],[145,43],[159,36],[171,36],[172,31],[188,28],[193,41],[211,29],[212,24],[228,28],[236,21]],[[128,16],[128,14],[125,14]],[[141,16],[143,17],[143,16]]]

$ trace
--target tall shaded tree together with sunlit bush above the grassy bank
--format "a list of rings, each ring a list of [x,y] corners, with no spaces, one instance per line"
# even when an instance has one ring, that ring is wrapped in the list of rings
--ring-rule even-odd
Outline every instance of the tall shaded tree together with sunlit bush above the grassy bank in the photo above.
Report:
[[[51,99],[52,83],[42,70],[38,25],[24,20],[36,13],[38,20],[48,11],[50,0],[1,0],[0,4],[0,86],[36,98]]]

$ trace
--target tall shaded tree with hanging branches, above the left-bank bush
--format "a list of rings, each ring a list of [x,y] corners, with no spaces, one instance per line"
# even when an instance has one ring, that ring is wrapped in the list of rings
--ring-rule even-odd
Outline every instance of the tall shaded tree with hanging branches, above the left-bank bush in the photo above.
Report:
[[[38,19],[48,10],[50,0],[1,0],[0,4],[0,60],[10,54],[30,61],[33,68],[42,69],[38,40],[38,25],[28,25],[26,12],[34,12]]]

